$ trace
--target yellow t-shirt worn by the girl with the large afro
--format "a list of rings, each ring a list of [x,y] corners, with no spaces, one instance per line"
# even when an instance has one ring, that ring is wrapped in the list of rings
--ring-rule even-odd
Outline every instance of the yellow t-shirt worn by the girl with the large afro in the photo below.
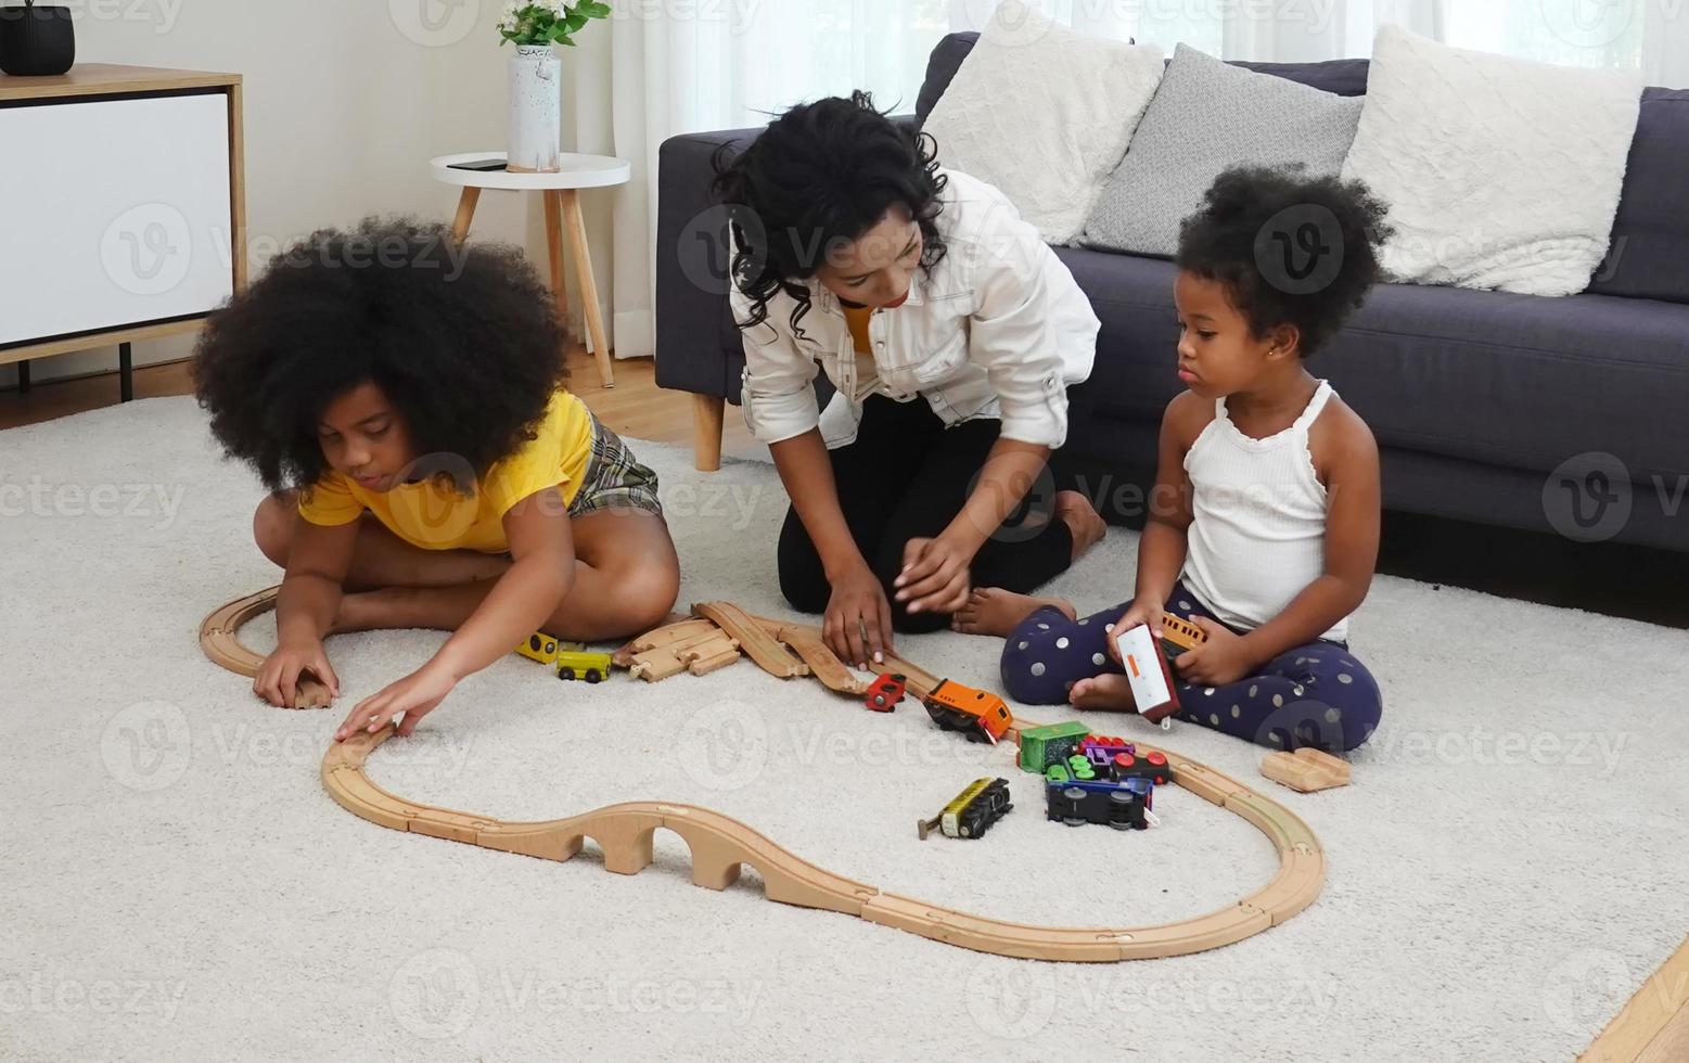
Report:
[[[510,549],[503,526],[510,507],[546,488],[559,488],[568,507],[581,490],[591,456],[593,414],[576,395],[559,390],[546,407],[539,434],[515,455],[495,461],[470,495],[441,477],[372,492],[329,470],[299,493],[299,514],[312,524],[336,527],[370,510],[412,546],[502,554]],[[419,461],[419,468],[424,466],[427,463]]]

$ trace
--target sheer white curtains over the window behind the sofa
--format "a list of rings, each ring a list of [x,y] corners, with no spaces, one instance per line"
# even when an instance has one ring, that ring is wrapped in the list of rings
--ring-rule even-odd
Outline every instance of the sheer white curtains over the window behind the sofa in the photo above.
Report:
[[[1088,34],[1184,41],[1225,59],[1366,56],[1393,22],[1478,51],[1640,68],[1689,86],[1689,0],[1027,0]],[[608,34],[571,52],[578,150],[633,162],[613,206],[595,201],[598,277],[618,357],[655,336],[657,149],[677,134],[762,125],[802,100],[866,88],[910,112],[927,56],[980,29],[997,0],[611,0]],[[578,289],[576,289],[578,291]]]

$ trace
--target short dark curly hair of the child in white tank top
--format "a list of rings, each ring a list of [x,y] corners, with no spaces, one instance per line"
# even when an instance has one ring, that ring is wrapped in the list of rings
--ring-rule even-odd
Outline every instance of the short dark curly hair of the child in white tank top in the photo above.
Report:
[[[1230,169],[1181,225],[1177,265],[1223,284],[1255,336],[1294,324],[1307,357],[1383,279],[1378,250],[1395,232],[1387,213],[1360,181]]]

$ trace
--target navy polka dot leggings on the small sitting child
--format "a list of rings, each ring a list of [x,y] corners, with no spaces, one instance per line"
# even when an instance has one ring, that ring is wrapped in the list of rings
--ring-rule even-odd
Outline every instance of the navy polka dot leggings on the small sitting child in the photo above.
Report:
[[[1108,625],[1127,605],[1081,620],[1054,607],[1027,617],[1003,646],[1003,690],[1024,705],[1066,705],[1067,690],[1079,679],[1121,674],[1106,639]],[[1214,619],[1182,583],[1174,586],[1167,612],[1186,620]],[[1371,737],[1383,713],[1378,683],[1341,642],[1285,651],[1258,674],[1226,686],[1192,686],[1177,676],[1174,686],[1181,720],[1268,749],[1350,750]]]

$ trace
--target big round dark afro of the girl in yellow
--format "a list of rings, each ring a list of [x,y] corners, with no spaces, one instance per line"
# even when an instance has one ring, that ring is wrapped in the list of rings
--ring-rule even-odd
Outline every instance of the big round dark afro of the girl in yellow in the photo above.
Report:
[[[270,490],[323,477],[318,422],[360,384],[385,392],[417,455],[483,475],[534,438],[566,375],[556,304],[522,250],[414,218],[301,240],[211,314],[194,350],[211,433]]]

